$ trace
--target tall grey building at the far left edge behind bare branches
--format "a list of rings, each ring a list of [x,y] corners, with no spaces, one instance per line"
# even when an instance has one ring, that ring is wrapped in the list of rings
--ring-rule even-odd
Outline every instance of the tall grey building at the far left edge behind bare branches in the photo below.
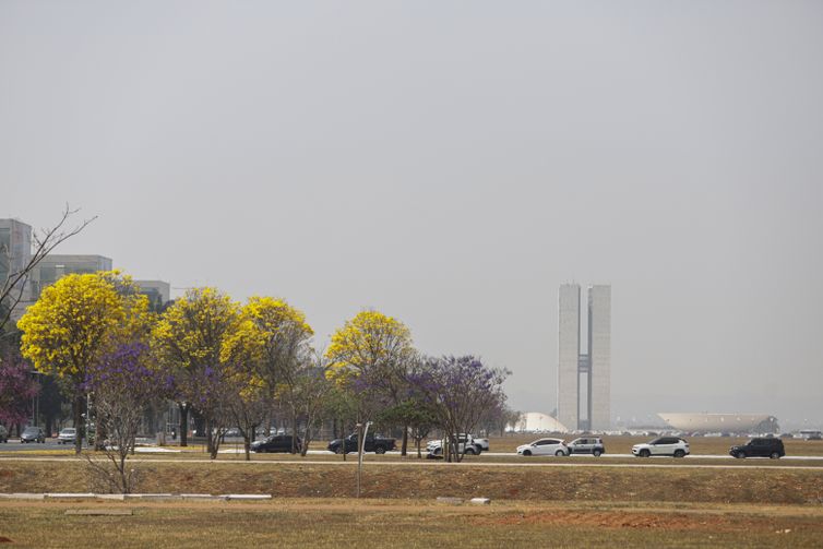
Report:
[[[9,277],[21,273],[31,260],[32,226],[17,219],[0,219],[0,287],[9,281]],[[33,288],[37,282],[36,274],[29,273],[29,276],[15,285],[12,290],[14,299],[20,296],[20,302],[12,311],[14,320],[23,314],[33,300]],[[19,294],[21,290],[22,293]]]

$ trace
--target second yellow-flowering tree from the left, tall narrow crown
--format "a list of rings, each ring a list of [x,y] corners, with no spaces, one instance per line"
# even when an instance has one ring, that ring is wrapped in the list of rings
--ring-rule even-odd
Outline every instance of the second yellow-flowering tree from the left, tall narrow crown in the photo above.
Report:
[[[216,288],[193,288],[166,309],[152,331],[156,360],[175,380],[180,408],[180,444],[188,443],[188,415],[193,409],[206,422],[212,458],[216,457],[226,405],[226,385],[234,371],[222,360],[224,344],[240,323],[240,306]]]

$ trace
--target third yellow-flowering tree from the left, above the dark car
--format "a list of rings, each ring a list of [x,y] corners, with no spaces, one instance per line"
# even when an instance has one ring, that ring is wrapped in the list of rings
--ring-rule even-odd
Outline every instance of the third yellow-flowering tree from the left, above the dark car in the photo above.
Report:
[[[284,299],[254,296],[243,307],[240,318],[238,330],[226,341],[222,356],[224,361],[248,373],[248,386],[242,394],[272,401],[293,393],[298,373],[309,360],[309,342],[314,335],[306,314]],[[236,399],[236,405],[243,411],[241,417],[249,417],[247,409],[258,408],[249,398]],[[293,413],[295,429],[296,422]],[[253,431],[252,426],[247,430]],[[248,442],[253,432],[242,434]]]

